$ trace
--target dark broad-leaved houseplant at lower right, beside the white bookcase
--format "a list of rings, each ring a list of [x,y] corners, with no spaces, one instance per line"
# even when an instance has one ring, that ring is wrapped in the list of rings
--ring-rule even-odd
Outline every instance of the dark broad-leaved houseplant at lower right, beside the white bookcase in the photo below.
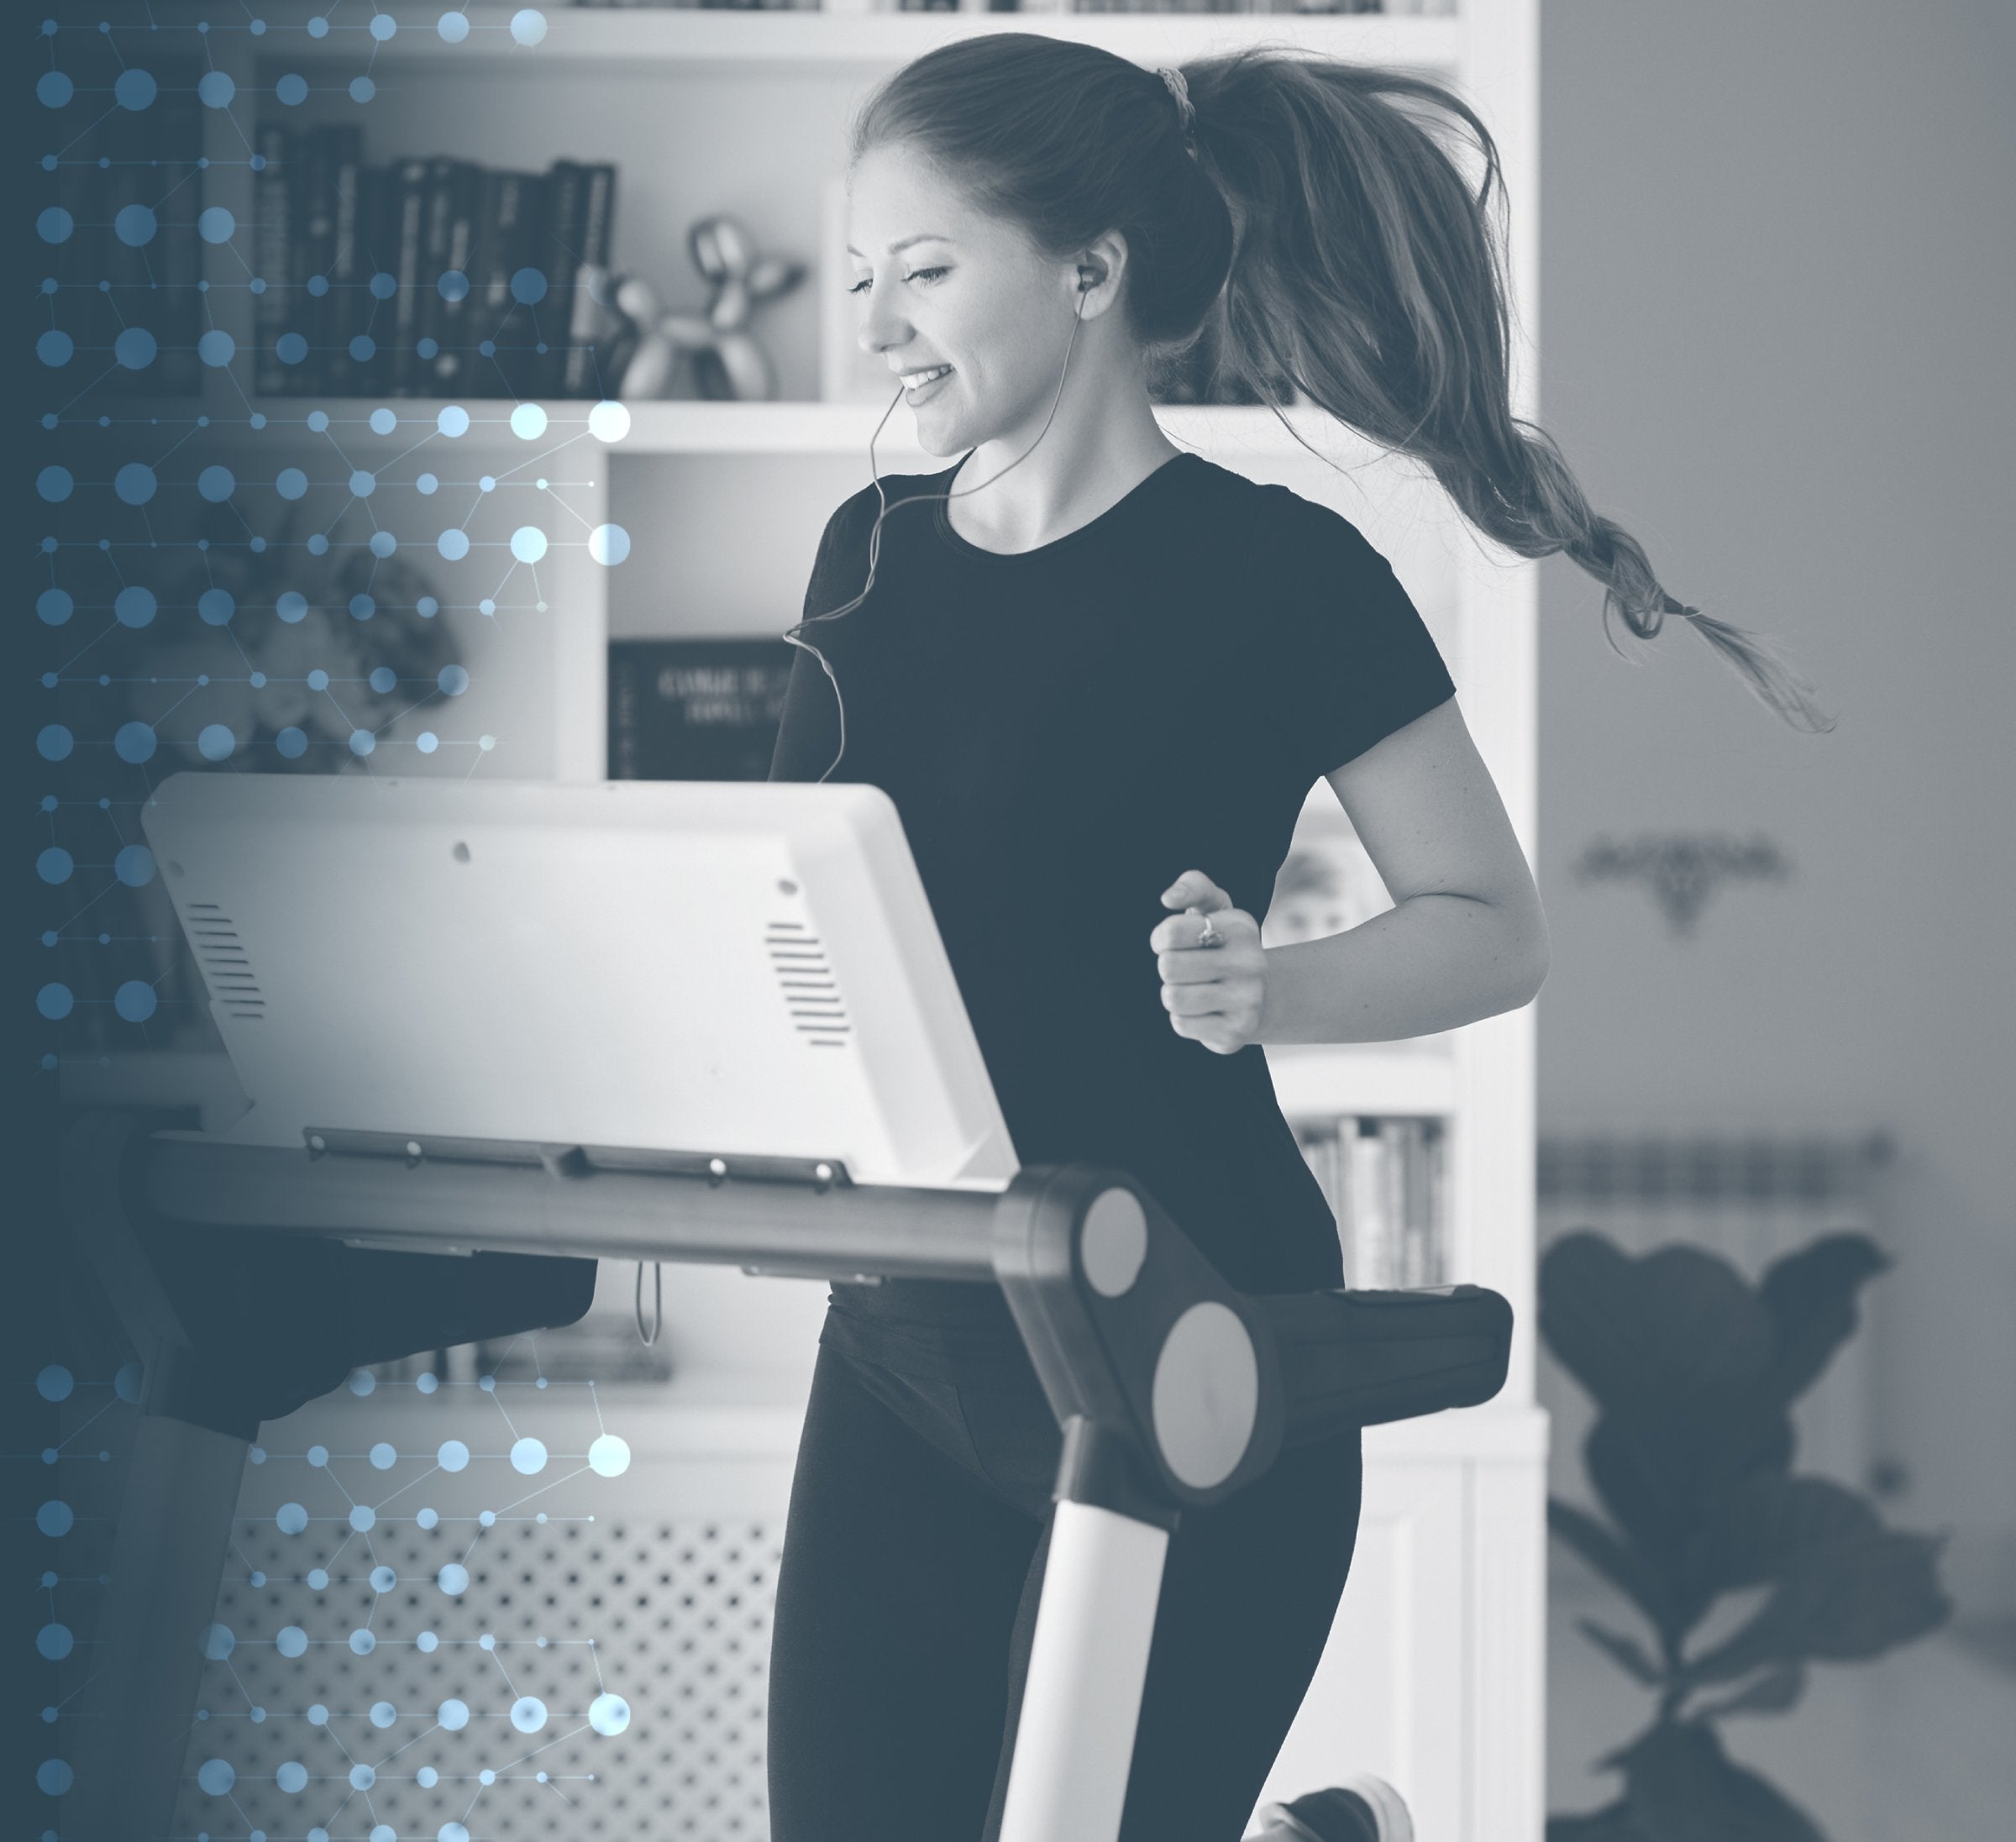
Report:
[[[1883,1526],[1857,1491],[1792,1475],[1788,1407],[1857,1326],[1855,1296],[1889,1266],[1861,1233],[1820,1235],[1750,1286],[1699,1247],[1625,1256],[1593,1229],[1540,1262],[1540,1336],[1589,1391],[1583,1447],[1615,1528],[1558,1497],[1552,1532],[1643,1614],[1653,1644],[1583,1618],[1583,1632],[1657,1695],[1651,1725],[1599,1763],[1621,1771],[1603,1810],[1548,1820],[1548,1842],[1822,1842],[1796,1804],[1724,1753],[1716,1721],[1784,1713],[1814,1661],[1879,1657],[1951,1616],[1947,1536]],[[1728,1592],[1768,1598],[1685,1655]],[[1691,1707],[1689,1697],[1710,1695]]]

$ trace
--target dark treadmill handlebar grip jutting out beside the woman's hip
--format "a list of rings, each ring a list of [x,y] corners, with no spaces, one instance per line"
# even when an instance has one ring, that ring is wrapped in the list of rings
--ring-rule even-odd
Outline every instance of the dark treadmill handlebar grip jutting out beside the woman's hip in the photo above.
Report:
[[[1423,1292],[1270,1292],[1286,1445],[1349,1427],[1478,1407],[1512,1360],[1512,1306],[1484,1286]]]

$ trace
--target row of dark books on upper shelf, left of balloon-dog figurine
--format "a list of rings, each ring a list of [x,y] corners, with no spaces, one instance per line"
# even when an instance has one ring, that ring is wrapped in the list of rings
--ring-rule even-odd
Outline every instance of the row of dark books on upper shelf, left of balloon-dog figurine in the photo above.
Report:
[[[615,395],[613,165],[369,165],[349,123],[260,123],[256,151],[258,395]]]

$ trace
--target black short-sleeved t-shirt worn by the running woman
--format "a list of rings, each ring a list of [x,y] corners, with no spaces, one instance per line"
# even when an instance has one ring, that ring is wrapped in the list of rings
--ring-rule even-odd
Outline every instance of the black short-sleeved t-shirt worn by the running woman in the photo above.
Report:
[[[1345,1284],[1337,1219],[1258,1044],[1177,1036],[1149,933],[1195,869],[1264,917],[1308,788],[1456,693],[1347,518],[1198,453],[1018,554],[962,538],[941,474],[887,474],[875,586],[812,621],[845,697],[829,782],[895,802],[1016,1157],[1137,1177],[1244,1292]],[[881,508],[827,522],[804,615],[853,601]],[[770,780],[818,780],[841,713],[792,661]],[[994,1286],[837,1284],[823,1342],[952,1378],[1024,1364]]]

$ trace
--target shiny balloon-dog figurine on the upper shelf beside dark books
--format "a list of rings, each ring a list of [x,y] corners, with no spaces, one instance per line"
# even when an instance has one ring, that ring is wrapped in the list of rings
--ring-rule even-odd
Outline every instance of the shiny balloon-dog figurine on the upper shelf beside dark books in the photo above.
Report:
[[[617,310],[637,328],[621,395],[631,401],[687,393],[714,403],[774,399],[776,367],[748,324],[762,302],[804,280],[804,264],[790,256],[758,256],[756,238],[728,214],[696,220],[685,232],[685,248],[714,284],[706,312],[665,312],[639,276],[625,276],[613,288]]]

